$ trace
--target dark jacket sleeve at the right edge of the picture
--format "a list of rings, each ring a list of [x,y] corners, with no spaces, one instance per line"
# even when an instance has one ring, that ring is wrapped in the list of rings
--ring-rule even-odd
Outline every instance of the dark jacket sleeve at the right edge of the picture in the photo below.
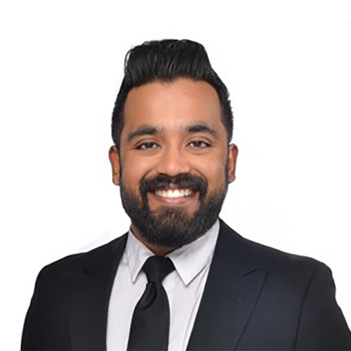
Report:
[[[335,298],[330,268],[317,263],[300,314],[295,350],[351,350],[351,333]]]

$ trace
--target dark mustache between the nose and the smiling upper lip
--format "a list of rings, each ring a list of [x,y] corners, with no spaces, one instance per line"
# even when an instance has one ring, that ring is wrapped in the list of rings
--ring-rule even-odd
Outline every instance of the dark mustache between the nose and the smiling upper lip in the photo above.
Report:
[[[155,178],[142,179],[140,181],[140,194],[146,196],[147,192],[162,190],[170,185],[206,194],[208,181],[200,176],[192,176],[189,173],[179,173],[174,177],[159,174]]]

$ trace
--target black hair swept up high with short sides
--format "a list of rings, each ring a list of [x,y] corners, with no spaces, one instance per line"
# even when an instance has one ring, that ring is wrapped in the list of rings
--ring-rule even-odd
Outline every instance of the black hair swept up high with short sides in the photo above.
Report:
[[[131,48],[124,60],[124,79],[112,112],[112,140],[120,152],[121,131],[124,127],[124,102],[132,88],[152,81],[172,82],[178,78],[206,81],[216,89],[221,107],[221,120],[232,140],[233,115],[229,92],[211,67],[204,46],[187,39],[145,41]]]

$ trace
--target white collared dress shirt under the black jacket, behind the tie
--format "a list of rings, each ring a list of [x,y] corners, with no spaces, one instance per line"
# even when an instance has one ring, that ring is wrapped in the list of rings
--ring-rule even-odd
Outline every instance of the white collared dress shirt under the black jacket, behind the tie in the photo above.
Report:
[[[169,253],[176,270],[162,283],[170,307],[168,351],[185,351],[204,291],[219,232],[219,220],[206,234]],[[126,250],[117,270],[107,319],[107,351],[126,351],[134,307],[147,284],[141,270],[154,253],[129,230]]]

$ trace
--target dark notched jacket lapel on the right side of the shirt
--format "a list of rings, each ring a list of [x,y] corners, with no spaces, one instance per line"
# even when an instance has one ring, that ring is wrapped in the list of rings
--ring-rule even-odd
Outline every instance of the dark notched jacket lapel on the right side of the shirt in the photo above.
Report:
[[[188,351],[235,350],[260,295],[258,268],[245,241],[220,219],[220,232]]]

